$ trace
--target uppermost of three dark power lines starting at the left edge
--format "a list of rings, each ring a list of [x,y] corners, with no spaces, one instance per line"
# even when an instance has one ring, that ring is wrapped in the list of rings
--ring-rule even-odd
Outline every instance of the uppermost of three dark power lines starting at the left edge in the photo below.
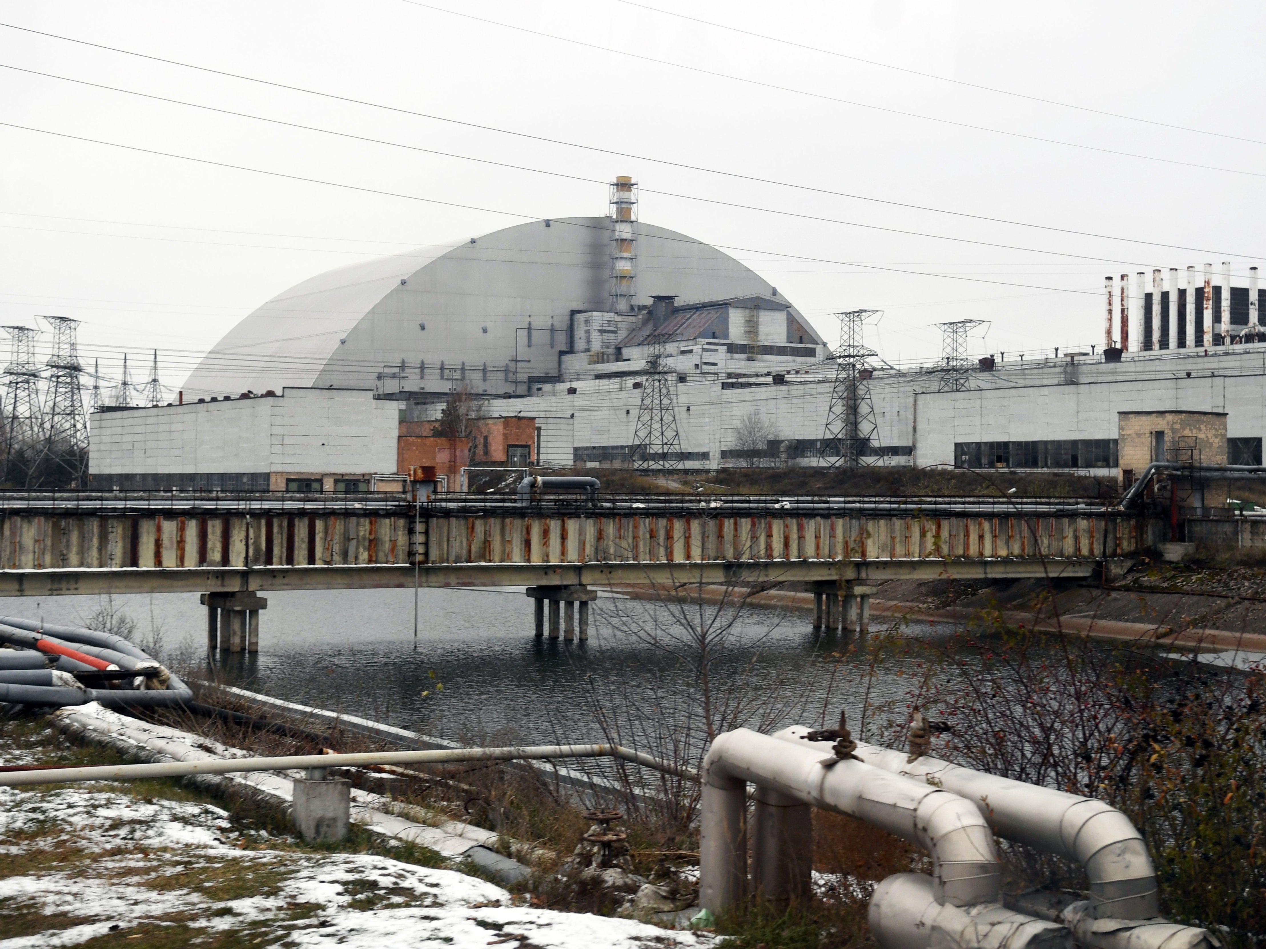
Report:
[[[622,151],[613,149],[613,148],[603,148],[603,147],[599,147],[599,146],[589,146],[589,144],[582,144],[582,143],[577,143],[577,142],[567,142],[566,139],[549,138],[547,135],[534,135],[534,134],[530,134],[530,133],[527,133],[527,132],[517,132],[517,130],[513,130],[513,129],[503,129],[503,128],[499,128],[496,125],[485,125],[485,124],[480,124],[480,123],[476,123],[476,121],[465,121],[462,119],[453,119],[453,118],[449,118],[449,116],[437,115],[437,114],[433,114],[433,113],[423,113],[423,111],[417,111],[417,110],[413,110],[413,109],[404,109],[404,108],[400,108],[400,106],[386,105],[384,102],[373,102],[373,101],[368,101],[368,100],[365,100],[365,99],[354,99],[352,96],[342,96],[342,95],[337,95],[334,92],[322,92],[319,90],[306,89],[304,86],[294,86],[294,85],[287,85],[285,82],[275,82],[272,80],[265,80],[265,78],[260,78],[260,77],[256,77],[256,76],[247,76],[247,75],[238,73],[238,72],[228,72],[225,70],[216,70],[216,68],[213,68],[213,67],[209,67],[209,66],[197,66],[197,65],[194,65],[194,63],[181,62],[179,59],[167,59],[167,58],[163,58],[161,56],[151,56],[148,53],[139,53],[139,52],[135,52],[133,49],[123,49],[120,47],[105,46],[103,43],[92,43],[92,42],[86,40],[86,39],[76,39],[73,37],[66,37],[66,35],[61,35],[61,34],[57,34],[57,33],[47,33],[44,30],[30,29],[29,27],[19,27],[19,25],[11,24],[11,23],[0,23],[0,27],[8,28],[8,29],[14,29],[14,30],[20,30],[23,33],[32,33],[34,35],[48,37],[51,39],[58,39],[58,40],[62,40],[62,42],[66,42],[66,43],[76,43],[78,46],[86,46],[86,47],[91,47],[94,49],[104,49],[106,52],[119,53],[122,56],[132,56],[132,57],[135,57],[135,58],[139,58],[139,59],[148,59],[151,62],[160,62],[160,63],[163,63],[163,65],[167,65],[167,66],[179,66],[181,68],[194,70],[194,71],[197,71],[197,72],[205,72],[205,73],[213,75],[213,76],[224,76],[227,78],[234,78],[234,80],[239,80],[239,81],[243,81],[243,82],[254,82],[254,84],[258,84],[258,85],[262,85],[262,86],[271,86],[273,89],[282,89],[282,90],[286,90],[286,91],[290,91],[290,92],[301,92],[304,95],[313,95],[313,96],[318,96],[318,97],[322,97],[322,99],[329,99],[332,101],[348,102],[348,104],[352,104],[352,105],[363,105],[363,106],[370,108],[370,109],[381,109],[384,111],[390,111],[390,113],[395,113],[395,114],[399,114],[399,115],[413,115],[413,116],[419,118],[419,119],[427,119],[427,120],[430,120],[430,121],[442,121],[442,123],[447,123],[449,125],[458,125],[458,127],[462,127],[462,128],[479,129],[481,132],[492,132],[492,133],[501,134],[501,135],[510,135],[510,137],[522,138],[522,139],[525,139],[525,140],[539,142],[542,144],[561,146],[561,147],[565,147],[565,148],[576,148],[576,149],[580,149],[580,151],[594,152],[594,153],[598,153],[598,154],[609,154],[609,156],[615,156],[615,157],[619,157],[619,158],[630,158],[633,161],[639,161],[639,162],[653,162],[656,164],[662,164],[662,166],[670,167],[670,168],[681,168],[684,171],[696,171],[696,172],[701,172],[701,173],[706,173],[706,175],[718,175],[718,176],[722,176],[722,177],[733,178],[736,181],[751,181],[753,183],[774,185],[776,187],[787,187],[787,189],[793,189],[793,190],[796,190],[796,191],[806,191],[806,192],[817,194],[817,195],[830,195],[830,196],[834,196],[834,197],[846,197],[846,199],[855,200],[855,201],[868,201],[868,202],[872,202],[872,204],[881,204],[881,205],[886,205],[886,206],[890,206],[890,208],[905,208],[905,209],[909,209],[909,210],[927,211],[929,214],[946,214],[946,215],[951,215],[951,216],[956,216],[956,218],[966,218],[966,219],[971,219],[971,220],[989,221],[989,223],[993,223],[993,224],[1005,224],[1005,225],[1017,226],[1017,228],[1033,228],[1033,229],[1037,229],[1037,230],[1048,230],[1048,232],[1057,233],[1057,234],[1071,234],[1071,235],[1075,235],[1075,237],[1089,237],[1089,238],[1096,238],[1096,239],[1100,239],[1100,240],[1120,240],[1120,242],[1132,243],[1132,244],[1139,244],[1139,245],[1144,245],[1144,247],[1163,247],[1163,248],[1169,248],[1169,249],[1174,249],[1174,251],[1189,251],[1189,252],[1194,252],[1194,253],[1223,254],[1223,256],[1227,256],[1227,257],[1260,257],[1260,254],[1246,254],[1246,253],[1228,252],[1228,251],[1213,251],[1213,249],[1208,249],[1208,248],[1186,247],[1186,245],[1182,245],[1182,244],[1169,244],[1169,243],[1163,243],[1163,242],[1158,242],[1158,240],[1146,240],[1146,239],[1141,239],[1141,238],[1119,237],[1119,235],[1114,235],[1114,234],[1099,234],[1096,232],[1077,230],[1077,229],[1074,229],[1074,228],[1060,228],[1060,226],[1055,226],[1055,225],[1050,225],[1050,224],[1033,224],[1033,223],[1029,223],[1029,221],[1013,220],[1013,219],[1009,219],[1009,218],[996,218],[996,216],[991,216],[991,215],[986,215],[986,214],[971,214],[968,211],[955,211],[955,210],[950,210],[950,209],[946,209],[946,208],[933,208],[931,205],[919,205],[919,204],[913,204],[913,202],[908,202],[908,201],[895,201],[895,200],[884,199],[884,197],[874,197],[874,196],[870,196],[870,195],[852,194],[852,192],[848,192],[848,191],[836,191],[836,190],[832,190],[832,189],[818,187],[818,186],[814,186],[814,185],[801,185],[801,183],[795,183],[795,182],[789,182],[789,181],[779,181],[776,178],[766,178],[766,177],[761,177],[758,175],[743,175],[741,172],[724,171],[724,170],[720,170],[720,168],[709,168],[706,166],[700,166],[700,164],[690,164],[689,162],[676,162],[676,161],[671,161],[671,159],[667,159],[667,158],[656,158],[656,157],[652,157],[652,156],[637,154],[634,152],[622,152]]]

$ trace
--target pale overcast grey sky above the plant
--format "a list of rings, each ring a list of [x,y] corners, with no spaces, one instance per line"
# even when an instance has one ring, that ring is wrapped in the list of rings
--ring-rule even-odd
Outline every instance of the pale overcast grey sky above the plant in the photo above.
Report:
[[[1266,142],[1258,105],[1266,10],[1258,4],[646,5],[891,66]],[[111,376],[125,349],[144,363],[135,373],[143,376],[148,350],[158,347],[163,381],[177,386],[238,319],[308,276],[524,216],[601,214],[603,182],[622,173],[643,187],[644,220],[743,248],[730,253],[771,280],[828,339],[836,335],[832,311],[885,310],[871,343],[893,361],[934,358],[939,334],[931,324],[961,318],[991,321],[987,338],[974,344],[980,352],[1101,343],[1105,275],[1223,259],[1246,275],[1266,251],[1258,234],[1266,144],[922,78],[619,0],[0,3],[0,22],[647,158],[1203,248],[1057,234],[741,181],[0,28],[0,63],[9,67],[582,178],[356,142],[0,68],[4,123],[489,209],[0,127],[0,315],[24,324],[35,314],[84,320],[82,354],[100,357],[103,373]],[[296,325],[295,334],[301,333]]]

